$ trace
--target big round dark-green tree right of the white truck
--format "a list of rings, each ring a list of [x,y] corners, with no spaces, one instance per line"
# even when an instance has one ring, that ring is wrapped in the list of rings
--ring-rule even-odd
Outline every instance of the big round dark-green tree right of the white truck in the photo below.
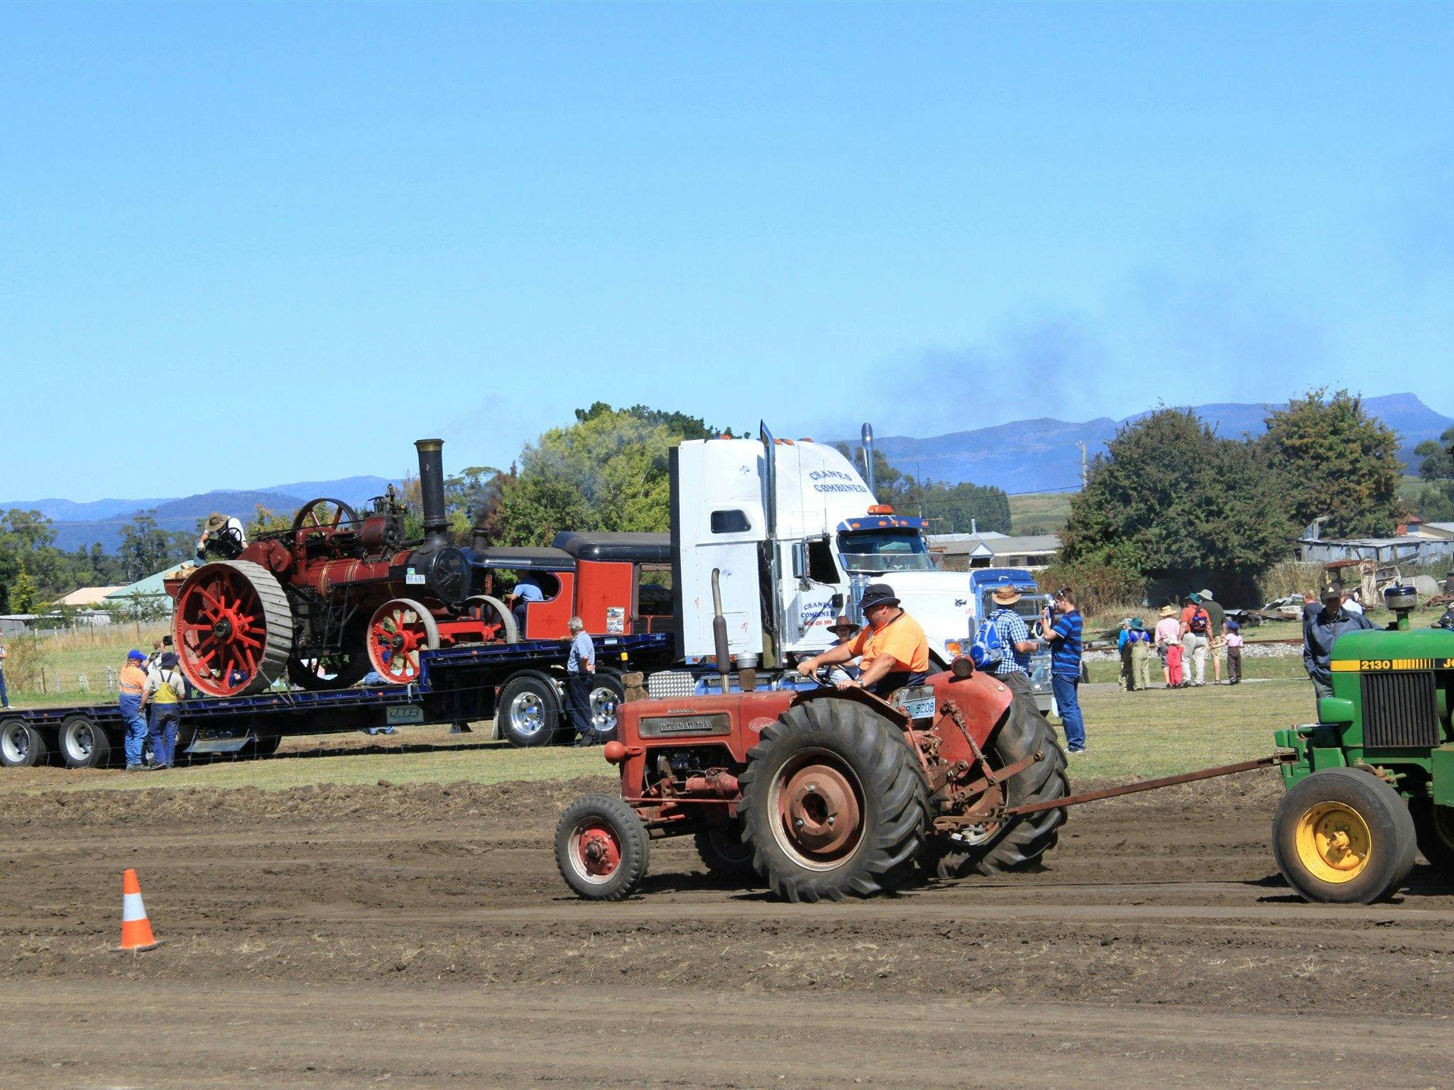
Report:
[[[1287,557],[1296,530],[1266,455],[1218,439],[1195,413],[1162,408],[1117,432],[1070,500],[1063,560],[1143,581],[1245,593]]]

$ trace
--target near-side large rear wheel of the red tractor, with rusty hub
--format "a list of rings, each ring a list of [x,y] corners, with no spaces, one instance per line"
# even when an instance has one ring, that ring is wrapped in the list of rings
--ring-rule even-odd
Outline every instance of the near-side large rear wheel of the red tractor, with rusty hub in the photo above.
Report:
[[[903,884],[923,849],[928,785],[903,731],[845,698],[806,701],[763,728],[739,776],[753,868],[790,901]]]

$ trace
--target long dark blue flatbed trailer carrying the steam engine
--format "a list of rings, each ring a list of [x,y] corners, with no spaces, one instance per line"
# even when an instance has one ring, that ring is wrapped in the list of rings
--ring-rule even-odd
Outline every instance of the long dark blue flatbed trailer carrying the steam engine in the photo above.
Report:
[[[670,664],[672,635],[598,635],[590,692],[598,730],[615,725],[624,670]],[[558,639],[464,644],[420,654],[411,685],[361,685],[321,692],[263,692],[179,702],[179,756],[266,756],[295,734],[339,734],[371,727],[467,724],[494,719],[513,746],[548,746],[569,732],[563,686],[570,645]],[[60,759],[103,767],[121,759],[126,727],[115,703],[0,712],[0,764],[28,767]]]

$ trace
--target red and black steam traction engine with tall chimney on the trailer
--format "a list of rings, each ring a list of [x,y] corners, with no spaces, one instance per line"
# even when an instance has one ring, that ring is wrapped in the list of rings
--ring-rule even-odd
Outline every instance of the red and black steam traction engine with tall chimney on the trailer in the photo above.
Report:
[[[204,693],[260,692],[285,673],[304,689],[342,689],[377,670],[419,679],[419,653],[515,642],[505,603],[477,593],[480,568],[445,533],[442,440],[420,439],[425,539],[404,541],[393,485],[362,517],[342,500],[305,503],[281,533],[170,583],[173,639]]]

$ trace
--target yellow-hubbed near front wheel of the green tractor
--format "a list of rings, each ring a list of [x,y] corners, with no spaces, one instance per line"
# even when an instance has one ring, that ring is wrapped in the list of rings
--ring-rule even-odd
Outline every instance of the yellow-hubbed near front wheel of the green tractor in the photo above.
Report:
[[[1413,868],[1413,815],[1393,788],[1358,769],[1294,783],[1272,818],[1278,871],[1309,901],[1370,904]]]

